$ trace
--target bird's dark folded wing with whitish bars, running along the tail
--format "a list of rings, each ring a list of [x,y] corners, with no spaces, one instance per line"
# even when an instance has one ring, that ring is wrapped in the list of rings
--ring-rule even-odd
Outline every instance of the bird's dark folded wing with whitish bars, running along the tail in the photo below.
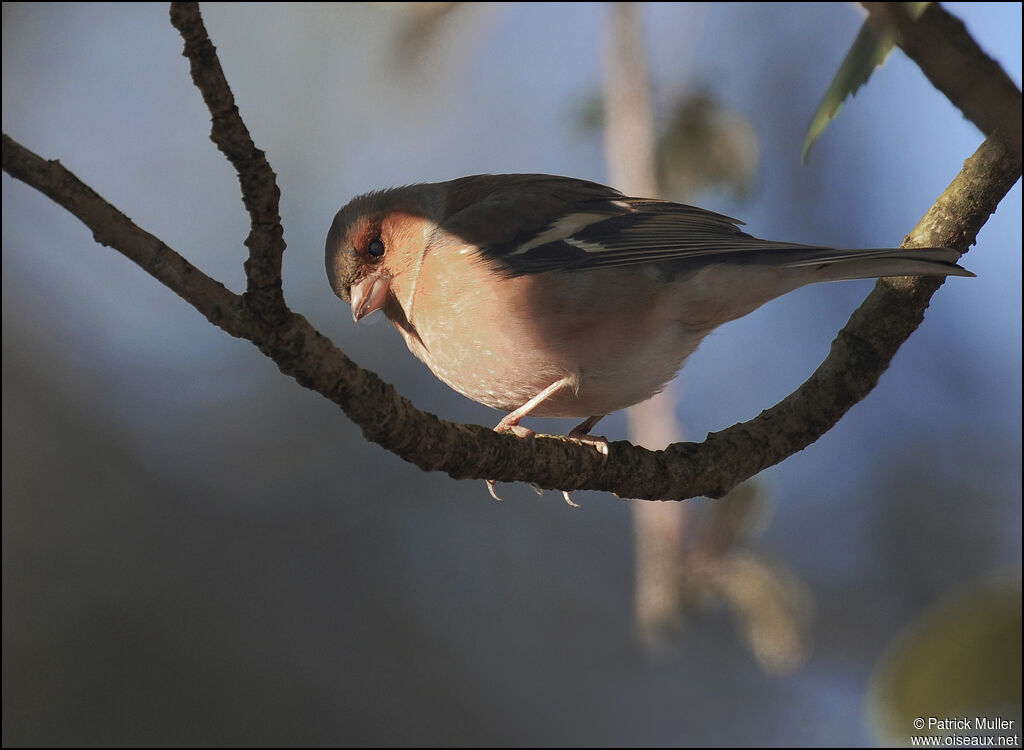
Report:
[[[737,219],[695,206],[626,198],[571,177],[476,175],[450,185],[441,227],[474,245],[506,276],[638,263],[658,263],[670,274],[708,263],[802,267],[897,252],[759,240],[742,232]],[[954,268],[945,273],[956,273],[954,254],[936,258]]]

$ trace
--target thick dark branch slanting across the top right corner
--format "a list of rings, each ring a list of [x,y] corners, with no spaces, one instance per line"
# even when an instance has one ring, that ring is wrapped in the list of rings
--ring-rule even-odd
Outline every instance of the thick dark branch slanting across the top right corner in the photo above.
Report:
[[[896,29],[897,41],[928,80],[986,136],[1006,140],[1021,160],[1021,91],[959,18],[931,3],[914,20],[903,3],[865,2],[869,20]]]

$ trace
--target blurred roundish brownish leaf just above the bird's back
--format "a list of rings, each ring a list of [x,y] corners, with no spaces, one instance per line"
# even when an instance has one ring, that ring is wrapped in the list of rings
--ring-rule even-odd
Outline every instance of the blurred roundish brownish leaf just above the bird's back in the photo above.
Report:
[[[742,197],[757,171],[760,149],[754,126],[705,93],[678,101],[657,143],[663,194],[691,201],[696,194],[725,189]]]

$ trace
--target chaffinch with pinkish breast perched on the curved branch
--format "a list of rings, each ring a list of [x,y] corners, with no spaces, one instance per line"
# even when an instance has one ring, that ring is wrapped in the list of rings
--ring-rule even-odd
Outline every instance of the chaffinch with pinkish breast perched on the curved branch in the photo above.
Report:
[[[327,236],[331,287],[358,322],[383,310],[463,395],[598,420],[657,393],[724,323],[808,284],[974,274],[950,248],[835,249],[760,240],[713,211],[549,174],[478,174],[367,193]],[[488,487],[494,495],[493,483]],[[571,502],[571,501],[570,501]]]

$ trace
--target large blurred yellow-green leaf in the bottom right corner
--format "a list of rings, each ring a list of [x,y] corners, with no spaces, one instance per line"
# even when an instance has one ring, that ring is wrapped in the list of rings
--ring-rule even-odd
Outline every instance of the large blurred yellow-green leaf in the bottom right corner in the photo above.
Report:
[[[1020,571],[958,590],[910,623],[876,667],[868,706],[883,743],[929,734],[913,726],[928,717],[1013,719],[1019,734]]]

